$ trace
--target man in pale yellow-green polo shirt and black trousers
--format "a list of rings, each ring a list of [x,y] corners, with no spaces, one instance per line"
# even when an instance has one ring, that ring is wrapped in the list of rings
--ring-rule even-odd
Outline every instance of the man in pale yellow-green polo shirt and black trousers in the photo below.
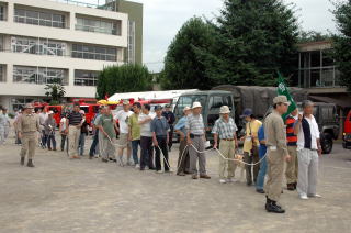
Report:
[[[150,115],[150,106],[144,104],[141,111],[143,114],[139,115],[141,147],[140,170],[154,170],[152,132],[150,126],[152,116]]]

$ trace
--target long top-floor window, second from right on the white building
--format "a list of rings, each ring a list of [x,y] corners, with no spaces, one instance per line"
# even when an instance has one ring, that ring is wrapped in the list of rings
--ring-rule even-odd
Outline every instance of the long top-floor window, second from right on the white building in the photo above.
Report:
[[[65,29],[65,15],[34,10],[14,9],[14,22]]]

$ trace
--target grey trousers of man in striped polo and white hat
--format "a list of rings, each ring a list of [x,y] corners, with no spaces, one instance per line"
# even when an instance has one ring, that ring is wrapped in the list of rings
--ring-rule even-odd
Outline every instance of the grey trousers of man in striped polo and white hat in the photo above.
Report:
[[[199,152],[205,151],[205,142],[202,136],[195,136],[191,140],[193,146]],[[206,175],[206,156],[205,153],[197,153],[192,146],[189,147],[189,155],[190,155],[190,171],[192,174],[197,174],[197,158],[199,158],[199,171],[200,175]]]

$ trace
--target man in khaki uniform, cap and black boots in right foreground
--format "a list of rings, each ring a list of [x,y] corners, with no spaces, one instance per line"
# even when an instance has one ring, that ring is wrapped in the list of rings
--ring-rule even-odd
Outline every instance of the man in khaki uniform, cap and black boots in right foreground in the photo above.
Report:
[[[285,125],[282,115],[287,112],[290,102],[285,96],[273,99],[273,112],[264,120],[267,145],[268,180],[264,186],[267,197],[265,210],[273,213],[284,213],[285,210],[276,202],[282,193],[284,163],[290,160],[286,145]]]

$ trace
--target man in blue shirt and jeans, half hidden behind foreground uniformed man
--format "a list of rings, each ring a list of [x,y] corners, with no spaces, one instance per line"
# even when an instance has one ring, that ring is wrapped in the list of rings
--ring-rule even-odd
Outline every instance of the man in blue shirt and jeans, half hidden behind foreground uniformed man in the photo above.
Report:
[[[258,138],[260,142],[259,157],[260,157],[260,159],[262,159],[262,157],[267,153],[263,124],[259,129]],[[265,173],[267,173],[267,160],[264,157],[260,164],[260,171],[259,171],[259,175],[257,176],[257,182],[256,182],[256,191],[259,193],[264,193],[263,186],[264,186]]]

